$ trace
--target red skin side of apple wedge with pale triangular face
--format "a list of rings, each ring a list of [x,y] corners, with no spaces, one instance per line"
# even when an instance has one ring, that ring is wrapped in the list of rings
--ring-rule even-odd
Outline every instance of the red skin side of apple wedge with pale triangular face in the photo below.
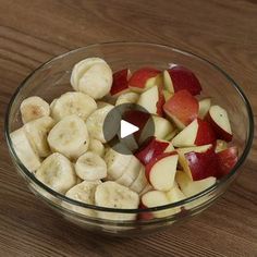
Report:
[[[216,143],[216,134],[212,130],[212,126],[207,122],[203,121],[199,118],[198,122],[198,131],[195,139],[196,146],[209,145]]]

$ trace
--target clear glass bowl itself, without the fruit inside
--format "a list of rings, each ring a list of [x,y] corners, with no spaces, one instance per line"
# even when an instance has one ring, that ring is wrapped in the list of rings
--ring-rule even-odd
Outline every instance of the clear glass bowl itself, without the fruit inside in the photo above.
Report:
[[[19,160],[10,133],[22,125],[20,105],[29,96],[40,96],[48,102],[72,90],[72,68],[82,59],[103,58],[113,71],[130,68],[155,66],[160,70],[175,64],[191,69],[199,78],[203,95],[227,109],[233,130],[233,143],[238,147],[240,158],[227,176],[211,187],[184,200],[149,209],[110,209],[70,199],[40,183]],[[17,172],[25,179],[29,189],[39,199],[58,211],[64,219],[87,230],[119,236],[139,235],[170,228],[172,224],[200,213],[221,196],[237,176],[253,140],[254,121],[250,105],[238,85],[219,66],[194,53],[168,46],[145,42],[107,42],[83,47],[51,59],[29,74],[14,93],[5,115],[5,138]],[[77,208],[79,212],[72,209]],[[84,212],[84,213],[82,213]],[[95,218],[90,213],[106,217]],[[103,212],[103,213],[102,213]],[[109,219],[112,213],[112,219]],[[157,215],[159,218],[154,218]],[[105,215],[105,216],[103,216]],[[131,220],[131,217],[136,217]],[[138,219],[147,217],[147,219]]]

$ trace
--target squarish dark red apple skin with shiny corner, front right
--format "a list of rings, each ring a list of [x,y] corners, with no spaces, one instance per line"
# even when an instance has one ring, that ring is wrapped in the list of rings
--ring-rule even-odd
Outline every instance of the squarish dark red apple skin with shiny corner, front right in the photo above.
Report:
[[[218,157],[213,147],[205,152],[191,151],[185,154],[193,181],[216,176],[219,170]]]

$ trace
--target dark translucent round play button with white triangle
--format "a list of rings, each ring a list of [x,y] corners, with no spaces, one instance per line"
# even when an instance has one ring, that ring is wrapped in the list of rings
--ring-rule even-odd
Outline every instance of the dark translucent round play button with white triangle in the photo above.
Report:
[[[155,135],[155,123],[151,114],[143,107],[123,103],[107,114],[103,135],[107,144],[115,151],[131,155]]]

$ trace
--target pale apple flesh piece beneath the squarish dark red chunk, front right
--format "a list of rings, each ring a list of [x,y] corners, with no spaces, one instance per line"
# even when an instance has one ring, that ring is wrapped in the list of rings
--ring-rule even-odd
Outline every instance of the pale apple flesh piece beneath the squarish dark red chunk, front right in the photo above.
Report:
[[[178,171],[175,175],[175,180],[183,192],[183,194],[186,197],[191,197],[193,195],[196,195],[210,186],[212,186],[216,183],[216,178],[215,176],[209,176],[204,180],[199,181],[192,181],[187,174],[183,171]]]

